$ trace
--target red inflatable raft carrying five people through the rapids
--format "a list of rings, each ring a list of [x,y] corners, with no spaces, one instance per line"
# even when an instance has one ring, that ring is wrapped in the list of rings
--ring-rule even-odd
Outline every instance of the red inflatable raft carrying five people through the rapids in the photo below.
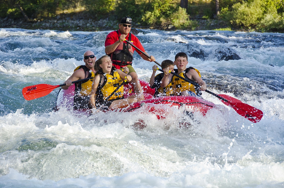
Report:
[[[192,96],[164,96],[153,98],[155,90],[149,87],[149,83],[140,80],[140,84],[143,89],[144,101],[139,101],[133,103],[126,108],[117,109],[119,112],[130,112],[136,109],[139,109],[143,106],[143,113],[153,113],[156,114],[157,118],[164,118],[163,113],[164,109],[156,108],[156,105],[166,105],[168,107],[183,108],[188,112],[199,112],[202,115],[205,115],[206,112],[212,109],[215,104],[201,99],[199,97]],[[68,89],[60,89],[56,99],[56,110],[59,108],[67,108],[68,110],[73,110],[73,98],[74,98],[74,89],[75,86],[72,85]],[[129,83],[124,85],[125,96],[133,94],[133,86]],[[165,106],[165,108],[166,108]],[[85,111],[85,110],[83,110]]]

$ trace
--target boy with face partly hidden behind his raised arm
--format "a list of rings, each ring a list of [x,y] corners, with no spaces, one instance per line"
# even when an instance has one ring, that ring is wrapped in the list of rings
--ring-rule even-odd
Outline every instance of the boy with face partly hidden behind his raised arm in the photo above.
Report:
[[[162,70],[168,67],[170,71],[174,71],[175,64],[173,61],[166,59],[162,61],[161,67]],[[150,87],[155,88],[154,97],[171,96],[173,94],[172,83],[168,84],[166,87],[161,87],[161,80],[164,77],[164,73],[155,76],[157,68],[158,66],[156,65],[152,67],[153,73],[149,81]]]

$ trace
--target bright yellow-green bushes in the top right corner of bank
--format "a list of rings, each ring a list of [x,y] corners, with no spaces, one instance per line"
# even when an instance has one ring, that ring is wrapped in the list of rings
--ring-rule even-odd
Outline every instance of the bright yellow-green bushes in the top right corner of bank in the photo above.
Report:
[[[282,0],[249,0],[234,4],[231,11],[223,8],[220,18],[234,28],[277,31],[284,30],[281,10]]]

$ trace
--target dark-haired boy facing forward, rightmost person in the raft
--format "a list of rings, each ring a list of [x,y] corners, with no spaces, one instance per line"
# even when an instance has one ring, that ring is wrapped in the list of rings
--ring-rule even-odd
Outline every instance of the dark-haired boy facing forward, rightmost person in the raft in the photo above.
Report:
[[[201,79],[200,73],[197,69],[193,67],[186,68],[188,64],[188,58],[186,53],[179,52],[177,53],[175,57],[174,63],[177,66],[177,70],[175,71],[176,74],[183,78],[187,78],[190,80],[193,80],[194,82],[197,82],[200,85],[200,90],[205,91],[207,89],[206,83]],[[161,87],[166,87],[168,84],[172,83],[172,89],[173,89],[173,95],[183,95],[183,96],[199,96],[201,95],[201,92],[198,92],[198,88],[195,88],[194,85],[192,85],[189,82],[186,82],[185,80],[182,80],[178,78],[177,76],[174,76],[169,73],[169,68],[166,68],[164,70],[164,77],[162,78]],[[170,75],[169,75],[170,74]]]

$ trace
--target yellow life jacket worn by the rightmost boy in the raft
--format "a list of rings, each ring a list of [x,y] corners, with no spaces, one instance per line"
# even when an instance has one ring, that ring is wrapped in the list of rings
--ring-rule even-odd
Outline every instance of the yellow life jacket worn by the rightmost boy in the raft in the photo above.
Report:
[[[198,75],[201,77],[199,70],[197,70],[196,68],[193,68],[193,67],[186,68],[183,72],[179,73],[178,75],[183,77],[183,78],[189,79],[186,76],[185,73],[187,73],[190,69],[196,70]],[[176,73],[178,73],[178,72],[176,71]],[[182,79],[178,78],[177,76],[173,76],[172,77],[172,82],[171,83],[172,83],[173,95],[181,95],[181,92],[183,92],[183,91],[192,91],[195,94],[197,94],[194,85],[192,85],[191,83],[189,83],[189,82],[187,82],[185,80],[182,80]]]

